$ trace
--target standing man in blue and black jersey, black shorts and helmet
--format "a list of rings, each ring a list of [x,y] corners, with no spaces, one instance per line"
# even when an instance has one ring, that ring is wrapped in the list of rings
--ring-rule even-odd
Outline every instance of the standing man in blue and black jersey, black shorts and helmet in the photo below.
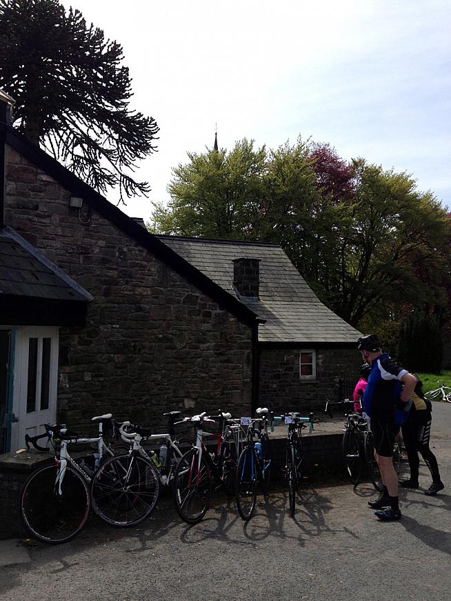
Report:
[[[384,485],[379,499],[368,501],[379,520],[393,521],[401,518],[398,501],[398,476],[393,466],[393,443],[399,431],[395,420],[395,406],[408,403],[417,384],[417,378],[395,364],[381,350],[376,335],[362,336],[357,348],[363,359],[371,365],[368,384],[363,395],[365,413],[370,416],[376,458]],[[386,509],[385,509],[386,508]]]

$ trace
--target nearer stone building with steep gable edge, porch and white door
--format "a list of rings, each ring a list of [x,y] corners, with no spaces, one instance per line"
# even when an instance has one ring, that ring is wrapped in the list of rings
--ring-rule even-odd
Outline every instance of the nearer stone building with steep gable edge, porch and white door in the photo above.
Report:
[[[248,414],[259,318],[8,125],[0,97],[2,451],[64,420]],[[165,420],[166,421],[166,420]]]

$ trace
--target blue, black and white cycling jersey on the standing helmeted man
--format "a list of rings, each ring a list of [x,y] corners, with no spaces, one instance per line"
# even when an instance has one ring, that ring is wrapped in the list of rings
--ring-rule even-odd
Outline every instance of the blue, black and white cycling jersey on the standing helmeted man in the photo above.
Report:
[[[401,378],[407,370],[394,363],[386,353],[377,357],[368,376],[363,395],[363,407],[370,417],[382,422],[394,422],[394,404],[401,395]]]

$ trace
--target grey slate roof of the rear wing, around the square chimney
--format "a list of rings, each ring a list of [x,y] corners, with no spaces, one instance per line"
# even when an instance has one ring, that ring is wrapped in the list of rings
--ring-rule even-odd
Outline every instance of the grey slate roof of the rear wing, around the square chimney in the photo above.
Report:
[[[260,259],[259,299],[243,300],[266,320],[259,325],[259,342],[356,343],[360,333],[319,301],[277,244],[158,237],[234,297],[232,260]]]

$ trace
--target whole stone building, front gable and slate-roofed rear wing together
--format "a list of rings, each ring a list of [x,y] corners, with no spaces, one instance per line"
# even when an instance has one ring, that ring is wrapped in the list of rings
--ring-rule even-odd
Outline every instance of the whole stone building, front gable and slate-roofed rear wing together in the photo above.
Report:
[[[174,409],[322,405],[354,375],[358,333],[280,248],[200,241],[194,257],[9,121],[0,94],[0,452],[106,411],[159,428]]]

